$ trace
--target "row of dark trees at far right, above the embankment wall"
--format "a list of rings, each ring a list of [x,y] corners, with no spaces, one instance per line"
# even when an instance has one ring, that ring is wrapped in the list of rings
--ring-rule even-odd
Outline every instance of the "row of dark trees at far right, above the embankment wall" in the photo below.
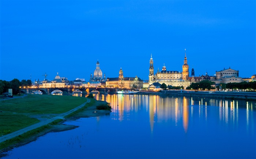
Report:
[[[256,81],[253,82],[240,82],[240,83],[221,83],[219,86],[217,86],[218,90],[249,90],[249,91],[255,91],[256,90]]]

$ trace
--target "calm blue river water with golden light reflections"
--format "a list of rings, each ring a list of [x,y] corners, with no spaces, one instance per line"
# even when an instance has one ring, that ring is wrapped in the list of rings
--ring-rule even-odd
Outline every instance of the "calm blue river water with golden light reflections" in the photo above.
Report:
[[[256,158],[256,102],[95,95],[113,110],[65,124],[5,158]]]

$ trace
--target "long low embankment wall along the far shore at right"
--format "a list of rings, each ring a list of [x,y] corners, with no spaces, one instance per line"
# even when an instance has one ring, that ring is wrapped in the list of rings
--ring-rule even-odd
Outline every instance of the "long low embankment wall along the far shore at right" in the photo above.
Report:
[[[204,97],[204,98],[222,98],[222,99],[244,99],[256,100],[256,92],[213,92],[213,91],[159,91],[159,92],[138,92],[142,95],[171,95],[187,97]]]

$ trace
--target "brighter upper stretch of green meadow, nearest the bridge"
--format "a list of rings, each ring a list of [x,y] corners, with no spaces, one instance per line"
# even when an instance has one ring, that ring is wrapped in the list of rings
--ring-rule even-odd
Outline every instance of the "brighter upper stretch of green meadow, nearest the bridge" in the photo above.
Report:
[[[0,111],[30,114],[60,114],[86,102],[86,98],[75,96],[53,96],[28,94],[24,98],[0,101]]]

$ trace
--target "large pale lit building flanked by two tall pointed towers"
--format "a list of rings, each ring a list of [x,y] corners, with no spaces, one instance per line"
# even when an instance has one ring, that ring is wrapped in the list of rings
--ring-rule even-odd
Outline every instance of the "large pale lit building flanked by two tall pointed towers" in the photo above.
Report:
[[[148,84],[151,85],[155,82],[160,84],[165,83],[167,86],[183,86],[184,88],[190,85],[188,80],[189,77],[189,65],[186,57],[186,49],[185,49],[185,58],[184,64],[182,65],[182,72],[179,71],[167,71],[165,64],[162,67],[162,71],[157,71],[154,75],[154,66],[153,66],[153,58],[151,54],[150,58],[150,67],[149,67],[149,75],[148,75]]]

